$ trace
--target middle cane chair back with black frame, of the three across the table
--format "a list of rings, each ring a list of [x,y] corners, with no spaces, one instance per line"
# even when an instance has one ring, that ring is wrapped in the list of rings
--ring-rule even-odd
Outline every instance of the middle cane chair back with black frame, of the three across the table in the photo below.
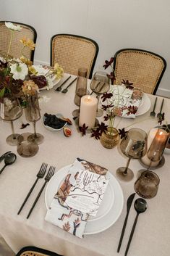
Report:
[[[65,73],[77,75],[79,67],[86,67],[91,78],[97,55],[98,44],[90,38],[69,34],[51,38],[51,66],[57,62]]]

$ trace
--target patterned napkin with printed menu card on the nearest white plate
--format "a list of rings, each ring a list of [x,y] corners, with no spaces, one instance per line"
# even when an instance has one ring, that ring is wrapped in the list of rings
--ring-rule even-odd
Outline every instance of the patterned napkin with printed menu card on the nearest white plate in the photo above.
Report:
[[[64,231],[82,238],[89,213],[92,215],[96,214],[103,198],[104,191],[106,190],[106,186],[109,182],[108,178],[105,177],[106,172],[107,169],[101,167],[100,165],[95,165],[92,162],[80,160],[80,158],[77,158],[73,165],[70,167],[69,172],[67,173],[67,176],[61,184],[59,190],[54,195],[54,199],[52,200],[51,205],[46,213],[45,220],[53,223],[56,226],[59,226],[59,228],[64,229]],[[82,177],[80,178],[80,176]],[[101,176],[103,177],[101,178]],[[82,199],[82,202],[84,203],[80,204],[80,197],[75,197],[74,201],[74,192],[77,190],[74,189],[77,188],[77,186],[80,186],[80,184],[82,186],[82,182],[80,181],[84,181],[83,186],[85,186],[85,190],[87,189],[87,191],[90,192],[91,189],[93,192],[93,183],[95,183],[96,186],[96,178],[98,178],[101,183],[106,182],[106,184],[103,184],[103,189],[102,186],[99,186],[98,197],[96,195],[94,197],[96,207],[94,207],[94,204],[91,204],[90,207],[88,207],[88,211],[82,212],[81,210],[85,209],[85,204],[88,205],[88,202],[90,201],[86,201],[85,199],[83,201]],[[93,182],[94,180],[95,182]],[[81,189],[78,190],[79,192],[81,191]],[[85,191],[85,193],[88,193],[87,191]],[[69,193],[71,193],[73,196],[72,200],[68,199]],[[75,207],[77,209],[69,207],[69,205],[77,205],[77,207]],[[79,210],[79,208],[81,210]]]

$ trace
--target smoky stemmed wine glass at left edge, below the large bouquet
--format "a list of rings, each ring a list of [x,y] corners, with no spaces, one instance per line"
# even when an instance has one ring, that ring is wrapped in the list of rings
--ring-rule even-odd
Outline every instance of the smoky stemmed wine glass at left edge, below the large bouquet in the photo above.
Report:
[[[22,107],[20,102],[14,94],[6,94],[3,101],[0,103],[0,117],[2,120],[10,121],[12,127],[12,134],[6,139],[7,144],[11,146],[17,145],[17,137],[20,134],[14,133],[14,120],[17,120],[22,115]]]

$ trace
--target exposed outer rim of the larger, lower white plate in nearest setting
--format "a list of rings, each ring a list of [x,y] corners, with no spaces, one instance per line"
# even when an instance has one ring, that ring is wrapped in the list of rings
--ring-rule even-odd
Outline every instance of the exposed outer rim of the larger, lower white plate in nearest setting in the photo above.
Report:
[[[66,168],[69,168],[71,165],[67,165],[67,166],[64,166],[63,168],[60,168],[58,172],[61,172],[62,170],[66,169]],[[122,192],[122,188],[119,184],[119,182],[116,180],[116,178],[110,173],[108,172],[107,173],[107,176],[109,176],[110,178],[110,181],[111,182],[111,186],[113,186],[113,189],[114,189],[114,203],[111,207],[111,209],[109,210],[108,213],[106,213],[106,215],[109,215],[110,218],[106,218],[106,215],[104,215],[103,217],[101,217],[100,219],[95,219],[93,220],[93,222],[91,221],[88,221],[87,225],[86,225],[86,228],[85,228],[85,235],[90,235],[90,234],[98,234],[98,233],[101,233],[102,231],[105,231],[107,228],[109,228],[110,226],[112,226],[116,220],[119,218],[119,216],[121,215],[121,212],[122,212],[122,209],[123,209],[123,205],[124,205],[124,197],[123,197],[123,192]],[[54,177],[53,177],[54,178]],[[47,194],[48,194],[48,187],[50,186],[50,181],[48,183],[48,185],[46,186],[46,191],[45,191],[45,203],[46,203],[46,207],[48,208],[48,204],[47,204]],[[115,196],[116,195],[116,196]],[[114,209],[114,206],[118,206],[115,211]],[[111,211],[113,212],[113,214],[110,214]],[[116,212],[116,215],[115,215],[115,212]],[[98,223],[99,223],[99,226],[100,224],[102,223],[101,220],[102,219],[106,219],[106,220],[109,220],[109,223],[106,224],[106,221],[103,221],[103,227],[99,227],[98,228]],[[96,225],[97,224],[97,225]],[[88,231],[88,226],[96,226],[94,227],[95,228],[95,231]],[[92,228],[93,229],[93,228]]]

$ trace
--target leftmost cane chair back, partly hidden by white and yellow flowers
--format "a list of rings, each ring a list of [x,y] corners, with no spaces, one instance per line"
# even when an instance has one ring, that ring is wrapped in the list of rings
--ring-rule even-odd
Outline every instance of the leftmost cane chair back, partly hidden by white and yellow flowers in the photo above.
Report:
[[[37,33],[33,27],[30,25],[18,23],[18,22],[12,22],[14,25],[21,25],[22,30],[21,31],[14,31],[14,36],[12,38],[12,46],[9,51],[10,56],[12,57],[21,57],[22,56],[22,43],[20,42],[20,39],[22,38],[29,38],[33,40],[33,42],[36,42]],[[7,51],[9,49],[9,42],[11,38],[11,31],[9,28],[6,27],[4,21],[0,21],[0,56],[4,57],[7,54]],[[34,50],[30,50],[28,47],[26,47],[23,50],[23,54],[25,57],[33,61],[34,57]]]

